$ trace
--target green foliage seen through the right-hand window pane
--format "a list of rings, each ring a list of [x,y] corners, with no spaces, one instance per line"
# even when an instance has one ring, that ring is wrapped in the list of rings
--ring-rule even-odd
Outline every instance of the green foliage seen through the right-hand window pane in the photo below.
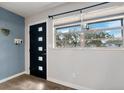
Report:
[[[85,33],[85,47],[120,47],[122,40],[115,40],[115,37],[106,32]]]

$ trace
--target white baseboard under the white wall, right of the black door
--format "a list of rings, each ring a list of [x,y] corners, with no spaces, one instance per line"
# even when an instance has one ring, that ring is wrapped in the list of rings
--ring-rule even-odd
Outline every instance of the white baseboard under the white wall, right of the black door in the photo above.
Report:
[[[74,89],[78,89],[78,90],[92,90],[92,89],[87,88],[87,87],[83,87],[83,86],[80,86],[80,85],[72,84],[72,83],[69,83],[69,82],[64,82],[64,81],[57,80],[57,79],[50,78],[50,77],[48,77],[47,80],[48,80],[48,81],[51,81],[51,82],[58,83],[58,84],[65,85],[65,86],[67,86],[67,87],[71,87],[71,88],[74,88]]]

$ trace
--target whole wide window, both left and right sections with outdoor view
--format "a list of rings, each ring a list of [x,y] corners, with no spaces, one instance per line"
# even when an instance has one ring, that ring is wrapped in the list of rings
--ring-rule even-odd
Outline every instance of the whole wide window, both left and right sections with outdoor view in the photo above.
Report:
[[[81,26],[79,16],[54,23],[56,48],[123,46],[123,19],[87,23],[85,27]]]

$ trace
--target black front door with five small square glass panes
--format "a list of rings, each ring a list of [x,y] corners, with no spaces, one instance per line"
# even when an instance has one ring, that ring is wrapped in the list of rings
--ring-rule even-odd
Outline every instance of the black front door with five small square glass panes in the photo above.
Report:
[[[30,26],[30,74],[46,79],[46,22]]]

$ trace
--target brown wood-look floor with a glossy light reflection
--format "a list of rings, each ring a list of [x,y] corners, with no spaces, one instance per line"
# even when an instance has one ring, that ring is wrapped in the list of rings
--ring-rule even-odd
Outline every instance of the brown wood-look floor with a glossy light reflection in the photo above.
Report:
[[[31,75],[21,75],[0,84],[0,90],[73,90]]]

